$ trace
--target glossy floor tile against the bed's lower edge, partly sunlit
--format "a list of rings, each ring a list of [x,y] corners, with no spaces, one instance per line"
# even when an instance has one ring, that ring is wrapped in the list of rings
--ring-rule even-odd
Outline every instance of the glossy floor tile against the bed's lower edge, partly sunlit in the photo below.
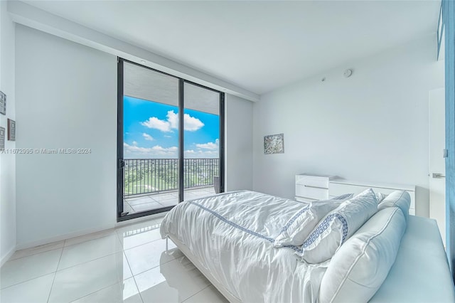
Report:
[[[182,302],[210,285],[186,257],[178,257],[134,278],[144,303]]]

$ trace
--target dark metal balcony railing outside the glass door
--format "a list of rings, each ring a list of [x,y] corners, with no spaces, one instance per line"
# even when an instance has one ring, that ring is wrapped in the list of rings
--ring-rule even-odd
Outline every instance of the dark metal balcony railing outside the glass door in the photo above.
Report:
[[[124,196],[176,191],[178,159],[125,159]],[[183,186],[212,186],[220,159],[183,159]]]

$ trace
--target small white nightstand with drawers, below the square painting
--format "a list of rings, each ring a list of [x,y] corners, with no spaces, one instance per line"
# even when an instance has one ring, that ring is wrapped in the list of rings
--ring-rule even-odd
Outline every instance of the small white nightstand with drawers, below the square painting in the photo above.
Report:
[[[296,201],[311,202],[328,199],[328,182],[332,176],[296,175]]]

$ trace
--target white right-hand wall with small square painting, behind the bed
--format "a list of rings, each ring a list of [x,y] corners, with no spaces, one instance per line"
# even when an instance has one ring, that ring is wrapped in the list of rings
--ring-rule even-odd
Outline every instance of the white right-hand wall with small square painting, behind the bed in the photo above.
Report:
[[[427,36],[263,95],[253,105],[255,190],[292,198],[304,172],[415,184],[417,215],[428,216],[428,91],[444,86],[436,51]],[[278,133],[284,154],[264,155],[263,136]]]

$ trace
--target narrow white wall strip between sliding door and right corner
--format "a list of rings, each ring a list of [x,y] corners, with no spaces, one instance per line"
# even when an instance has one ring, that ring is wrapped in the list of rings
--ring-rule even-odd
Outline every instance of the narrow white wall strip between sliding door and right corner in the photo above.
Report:
[[[225,191],[252,190],[253,103],[226,94]]]

